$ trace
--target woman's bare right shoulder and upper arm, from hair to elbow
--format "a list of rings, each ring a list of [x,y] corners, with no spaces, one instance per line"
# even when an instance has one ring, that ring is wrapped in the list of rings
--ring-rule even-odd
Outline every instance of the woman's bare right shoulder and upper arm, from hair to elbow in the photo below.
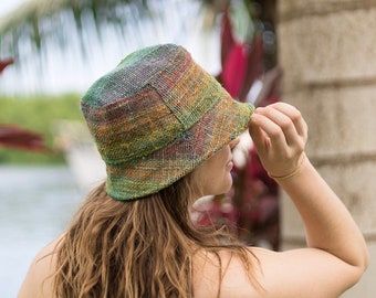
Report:
[[[353,268],[322,249],[247,251],[248,267],[241,257],[224,249],[217,255],[197,254],[195,297],[337,298],[354,284]]]

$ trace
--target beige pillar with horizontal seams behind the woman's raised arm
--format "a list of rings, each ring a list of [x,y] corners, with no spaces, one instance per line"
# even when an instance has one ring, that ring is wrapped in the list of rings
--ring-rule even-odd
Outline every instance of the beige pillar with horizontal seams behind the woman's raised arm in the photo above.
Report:
[[[376,297],[376,1],[278,1],[282,99],[310,126],[307,155],[361,226],[370,266],[342,297]],[[304,243],[282,195],[282,247]]]

